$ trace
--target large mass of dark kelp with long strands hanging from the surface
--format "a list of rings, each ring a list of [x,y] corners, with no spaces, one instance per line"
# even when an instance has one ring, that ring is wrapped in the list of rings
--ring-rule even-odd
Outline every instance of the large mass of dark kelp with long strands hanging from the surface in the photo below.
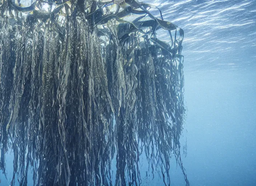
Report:
[[[140,185],[142,153],[165,185],[174,155],[189,185],[181,28],[135,0],[1,0],[0,13],[0,168],[12,149],[11,185],[27,185],[29,167],[39,186]]]

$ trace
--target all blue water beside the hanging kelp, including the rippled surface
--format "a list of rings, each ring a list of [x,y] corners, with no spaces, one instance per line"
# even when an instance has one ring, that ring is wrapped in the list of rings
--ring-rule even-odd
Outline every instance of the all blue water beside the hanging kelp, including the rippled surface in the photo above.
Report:
[[[255,186],[256,1],[146,2],[185,33],[187,120],[181,146],[187,141],[187,156],[181,157],[190,185]],[[6,158],[9,179],[12,155]],[[175,161],[171,179],[173,186],[185,185]],[[2,174],[1,184],[9,184]],[[144,185],[163,182],[155,178]]]

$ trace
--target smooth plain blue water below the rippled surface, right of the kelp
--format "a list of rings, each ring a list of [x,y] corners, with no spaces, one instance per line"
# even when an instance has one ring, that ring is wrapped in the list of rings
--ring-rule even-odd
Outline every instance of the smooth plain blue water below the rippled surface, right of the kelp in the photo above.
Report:
[[[255,82],[253,72],[186,75],[183,162],[192,186],[256,185]]]

